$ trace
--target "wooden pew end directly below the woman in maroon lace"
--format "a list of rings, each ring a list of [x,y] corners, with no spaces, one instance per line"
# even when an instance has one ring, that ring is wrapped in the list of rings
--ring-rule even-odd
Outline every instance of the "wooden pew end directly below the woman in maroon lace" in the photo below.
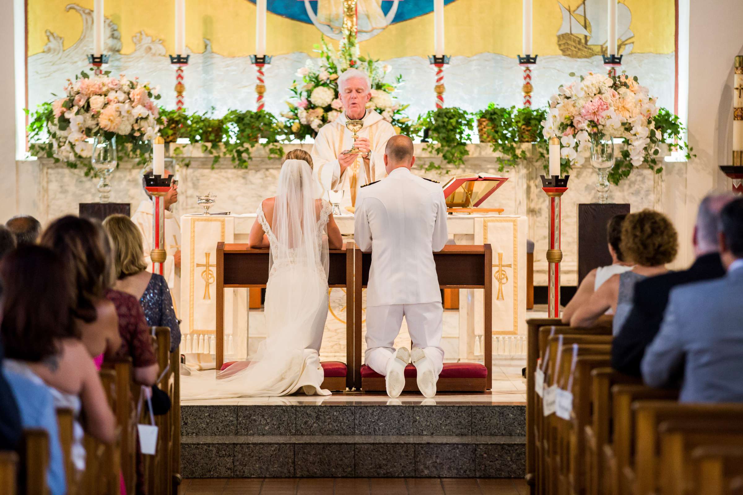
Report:
[[[134,494],[137,479],[137,419],[134,400],[138,399],[139,386],[134,387],[132,358],[104,361],[103,367],[112,370],[115,376],[116,400],[114,414],[121,427],[120,459],[126,493]]]

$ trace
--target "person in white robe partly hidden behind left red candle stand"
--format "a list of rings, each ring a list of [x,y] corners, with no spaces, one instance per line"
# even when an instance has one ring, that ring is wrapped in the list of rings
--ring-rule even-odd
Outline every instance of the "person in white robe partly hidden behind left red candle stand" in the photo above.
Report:
[[[152,170],[144,174],[151,174]],[[170,174],[166,171],[166,174]],[[144,180],[143,180],[144,185]],[[147,263],[147,271],[152,272],[152,259],[149,257],[152,249],[152,197],[145,190],[148,199],[142,200],[137,211],[132,215],[132,222],[142,232],[144,260]],[[180,316],[178,306],[181,302],[181,223],[178,217],[171,211],[172,206],[178,201],[178,181],[172,181],[172,189],[165,196],[165,251],[168,257],[163,263],[163,277],[168,283],[170,294],[173,298],[175,315]]]

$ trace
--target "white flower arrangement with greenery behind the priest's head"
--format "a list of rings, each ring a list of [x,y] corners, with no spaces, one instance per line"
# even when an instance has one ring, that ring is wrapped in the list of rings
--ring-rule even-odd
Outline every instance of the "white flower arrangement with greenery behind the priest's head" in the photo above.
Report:
[[[395,82],[387,82],[386,75],[392,68],[377,60],[360,56],[354,34],[346,36],[336,50],[323,38],[315,45],[319,59],[308,59],[305,66],[296,72],[301,78],[294,81],[289,90],[289,110],[282,114],[287,128],[296,140],[315,137],[322,125],[333,122],[343,112],[343,103],[338,97],[338,77],[349,68],[364,71],[371,80],[371,101],[366,108],[375,110],[390,122],[398,134],[408,134],[410,119],[405,114],[408,105],[400,105],[393,96],[402,76]]]

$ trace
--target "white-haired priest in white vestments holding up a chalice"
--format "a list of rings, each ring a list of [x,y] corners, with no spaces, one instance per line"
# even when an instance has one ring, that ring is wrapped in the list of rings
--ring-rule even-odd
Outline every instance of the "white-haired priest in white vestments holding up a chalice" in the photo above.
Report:
[[[342,189],[341,204],[355,206],[361,186],[386,177],[384,147],[395,136],[395,129],[376,111],[366,108],[371,100],[371,82],[363,71],[348,69],[341,74],[338,92],[343,114],[320,128],[312,147],[313,174],[323,198],[328,199],[327,191]],[[346,119],[364,122],[355,142],[353,133],[345,127]],[[363,153],[347,153],[353,146]]]

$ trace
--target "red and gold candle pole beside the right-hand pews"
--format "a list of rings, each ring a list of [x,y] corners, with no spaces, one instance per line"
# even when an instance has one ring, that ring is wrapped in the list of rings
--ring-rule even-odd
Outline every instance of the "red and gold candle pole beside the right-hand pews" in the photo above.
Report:
[[[562,261],[562,250],[560,249],[560,209],[562,194],[568,190],[569,175],[559,177],[553,175],[550,178],[542,177],[542,191],[545,191],[550,200],[549,209],[549,249],[547,249],[547,262],[549,263],[548,275],[548,318],[559,318],[559,263]]]

